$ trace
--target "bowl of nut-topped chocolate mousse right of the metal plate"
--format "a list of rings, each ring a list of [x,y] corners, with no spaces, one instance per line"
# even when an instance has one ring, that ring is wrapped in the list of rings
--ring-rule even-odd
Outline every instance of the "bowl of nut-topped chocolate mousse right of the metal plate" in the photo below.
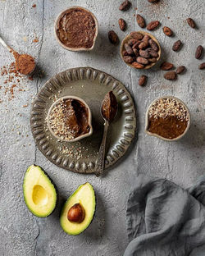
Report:
[[[191,121],[188,107],[173,96],[154,100],[149,105],[145,118],[145,132],[166,141],[185,136]]]

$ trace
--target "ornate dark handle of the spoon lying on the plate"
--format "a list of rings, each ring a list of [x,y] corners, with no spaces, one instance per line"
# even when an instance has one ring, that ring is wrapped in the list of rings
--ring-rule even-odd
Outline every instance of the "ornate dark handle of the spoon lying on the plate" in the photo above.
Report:
[[[106,149],[106,139],[107,139],[108,126],[109,126],[109,122],[105,121],[103,139],[102,139],[100,149],[99,149],[99,152],[98,152],[98,160],[97,160],[96,169],[95,169],[95,175],[97,177],[103,175],[104,168],[105,168],[105,149]]]

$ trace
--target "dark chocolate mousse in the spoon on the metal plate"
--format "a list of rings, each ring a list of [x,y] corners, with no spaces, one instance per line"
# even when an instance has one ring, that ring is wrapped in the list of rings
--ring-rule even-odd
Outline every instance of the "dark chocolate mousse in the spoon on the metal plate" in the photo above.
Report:
[[[110,91],[105,95],[102,105],[103,117],[111,122],[116,117],[117,112],[117,101],[116,96]]]

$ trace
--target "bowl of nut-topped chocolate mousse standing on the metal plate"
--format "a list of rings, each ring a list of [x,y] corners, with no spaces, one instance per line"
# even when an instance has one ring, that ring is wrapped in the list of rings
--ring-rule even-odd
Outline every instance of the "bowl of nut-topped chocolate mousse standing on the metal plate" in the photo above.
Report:
[[[76,96],[59,98],[48,110],[48,129],[59,141],[75,142],[93,134],[87,103]]]

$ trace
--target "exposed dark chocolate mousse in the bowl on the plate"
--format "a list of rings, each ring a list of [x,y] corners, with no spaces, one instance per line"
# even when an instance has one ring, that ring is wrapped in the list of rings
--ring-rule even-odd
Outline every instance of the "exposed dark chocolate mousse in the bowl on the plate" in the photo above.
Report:
[[[89,110],[76,99],[66,99],[65,124],[74,138],[89,133]]]

